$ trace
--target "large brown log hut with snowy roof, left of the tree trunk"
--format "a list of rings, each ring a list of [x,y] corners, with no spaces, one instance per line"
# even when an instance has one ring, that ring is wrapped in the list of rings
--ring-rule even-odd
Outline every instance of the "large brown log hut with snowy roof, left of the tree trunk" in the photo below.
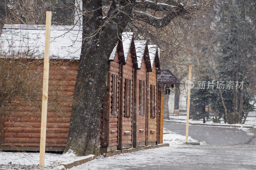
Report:
[[[46,151],[63,151],[67,143],[77,59],[82,44],[79,30],[77,26],[51,27]],[[1,149],[39,150],[43,79],[43,60],[40,58],[44,56],[44,33],[43,25],[4,25],[2,30],[2,57],[4,54],[12,58],[21,56],[28,71],[32,72],[30,76],[38,80],[31,81],[30,92],[35,91],[31,95],[34,100],[15,96],[9,107],[1,108]]]

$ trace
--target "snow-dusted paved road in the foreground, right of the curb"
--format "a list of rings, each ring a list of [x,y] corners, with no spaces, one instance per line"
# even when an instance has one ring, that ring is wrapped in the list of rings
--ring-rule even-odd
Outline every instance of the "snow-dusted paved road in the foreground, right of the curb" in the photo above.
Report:
[[[95,159],[81,169],[256,169],[256,146],[171,146]]]

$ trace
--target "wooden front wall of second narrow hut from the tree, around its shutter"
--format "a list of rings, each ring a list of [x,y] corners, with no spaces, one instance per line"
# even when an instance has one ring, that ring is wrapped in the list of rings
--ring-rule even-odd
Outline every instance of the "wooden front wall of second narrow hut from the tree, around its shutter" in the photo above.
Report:
[[[120,90],[122,92],[122,109],[119,108],[120,111],[122,111],[122,113],[120,112],[120,124],[119,124],[119,145],[118,148],[127,148],[127,147],[131,147],[132,146],[132,80],[133,80],[133,63],[132,63],[132,55],[131,52],[129,51],[128,54],[128,58],[126,61],[126,64],[123,65],[123,70],[122,70],[122,78],[121,78],[121,83],[122,85],[122,89]],[[130,79],[131,80],[131,98],[130,98],[130,117],[126,117],[125,116],[125,79]],[[125,131],[129,131],[130,133],[126,133]]]

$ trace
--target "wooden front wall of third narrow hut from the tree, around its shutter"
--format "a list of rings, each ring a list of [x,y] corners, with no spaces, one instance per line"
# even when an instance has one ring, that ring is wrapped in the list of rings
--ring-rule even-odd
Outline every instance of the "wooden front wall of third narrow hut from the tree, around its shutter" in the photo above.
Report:
[[[147,93],[146,93],[146,83],[147,83],[147,69],[146,69],[146,63],[144,60],[144,57],[142,58],[141,61],[141,67],[140,70],[137,70],[137,104],[136,104],[136,141],[137,141],[137,146],[143,146],[146,144],[146,99],[147,99]],[[145,81],[144,85],[144,98],[145,98],[145,103],[144,103],[144,115],[140,115],[140,80]],[[143,132],[140,132],[140,129],[143,129]]]

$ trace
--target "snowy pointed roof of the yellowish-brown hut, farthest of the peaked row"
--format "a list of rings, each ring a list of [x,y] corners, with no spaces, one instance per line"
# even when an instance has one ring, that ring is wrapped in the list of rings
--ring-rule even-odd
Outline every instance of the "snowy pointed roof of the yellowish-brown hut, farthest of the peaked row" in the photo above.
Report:
[[[156,45],[148,45],[148,53],[149,53],[151,67],[153,68],[153,65],[154,65],[154,62],[155,62],[156,73],[160,74],[161,70],[160,70],[158,49],[159,48],[157,48]]]

